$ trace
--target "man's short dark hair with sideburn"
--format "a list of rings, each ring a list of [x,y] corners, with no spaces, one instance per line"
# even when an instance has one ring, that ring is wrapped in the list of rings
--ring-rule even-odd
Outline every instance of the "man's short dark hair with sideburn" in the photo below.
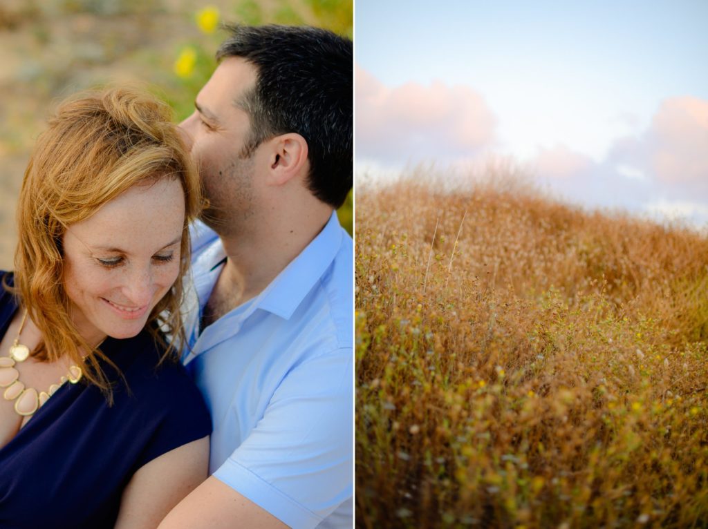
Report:
[[[300,134],[308,147],[309,190],[340,207],[353,180],[351,40],[305,26],[226,29],[232,35],[219,47],[217,61],[243,57],[258,75],[253,91],[236,102],[251,120],[244,156],[278,134]]]

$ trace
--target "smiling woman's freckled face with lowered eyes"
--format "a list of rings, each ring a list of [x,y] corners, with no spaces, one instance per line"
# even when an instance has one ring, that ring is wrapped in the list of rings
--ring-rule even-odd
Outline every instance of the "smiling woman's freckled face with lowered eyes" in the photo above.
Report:
[[[162,178],[131,187],[64,233],[69,314],[89,344],[137,335],[180,268],[184,193]]]

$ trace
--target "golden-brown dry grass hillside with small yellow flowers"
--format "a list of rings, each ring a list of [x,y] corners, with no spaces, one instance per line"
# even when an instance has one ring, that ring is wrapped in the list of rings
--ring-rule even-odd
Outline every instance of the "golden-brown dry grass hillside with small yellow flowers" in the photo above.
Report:
[[[358,527],[708,526],[708,238],[518,183],[355,214]]]

